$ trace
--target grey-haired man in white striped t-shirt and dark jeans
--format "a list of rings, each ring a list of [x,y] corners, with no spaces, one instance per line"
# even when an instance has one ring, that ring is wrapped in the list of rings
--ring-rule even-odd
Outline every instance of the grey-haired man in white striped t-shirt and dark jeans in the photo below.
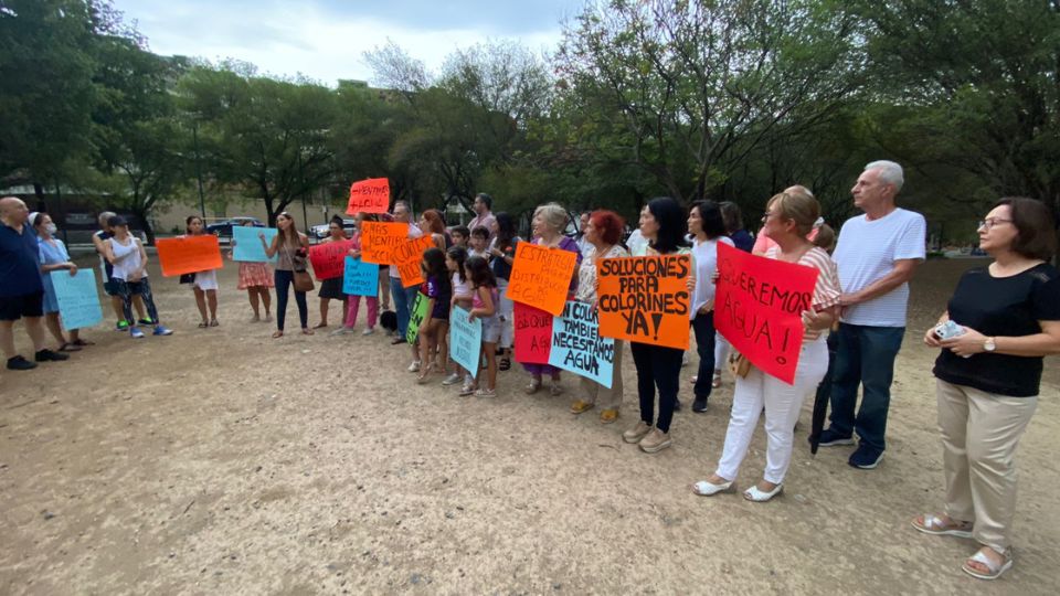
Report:
[[[820,445],[852,445],[849,464],[872,469],[883,458],[887,413],[894,358],[905,333],[909,280],[924,260],[926,223],[920,213],[900,209],[902,167],[873,161],[851,189],[854,204],[865,212],[847,220],[833,258],[844,295],[836,368],[831,377],[831,424]],[[861,407],[855,416],[861,385]]]

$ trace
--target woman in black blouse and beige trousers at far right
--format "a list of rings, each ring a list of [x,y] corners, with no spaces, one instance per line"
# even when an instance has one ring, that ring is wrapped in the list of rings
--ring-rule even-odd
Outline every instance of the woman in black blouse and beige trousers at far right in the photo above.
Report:
[[[1060,353],[1060,273],[1048,263],[1057,248],[1052,222],[1038,201],[999,201],[979,224],[979,246],[994,262],[957,283],[939,320],[955,323],[948,332],[924,336],[942,348],[934,374],[946,505],[913,526],[975,539],[982,547],[962,568],[982,579],[1013,565],[1013,459],[1038,405],[1042,356]]]

